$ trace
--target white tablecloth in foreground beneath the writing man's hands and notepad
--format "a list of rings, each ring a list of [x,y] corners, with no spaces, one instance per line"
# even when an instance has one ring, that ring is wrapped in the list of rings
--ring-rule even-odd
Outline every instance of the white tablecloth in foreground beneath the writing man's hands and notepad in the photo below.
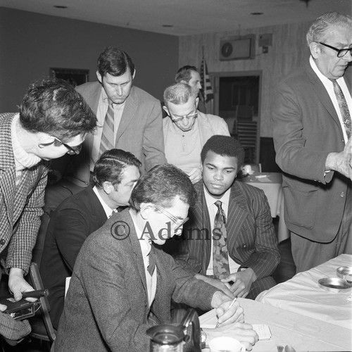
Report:
[[[267,304],[239,298],[246,322],[270,327],[272,338],[258,341],[253,352],[277,352],[277,346],[293,346],[296,351],[352,351],[351,329],[289,312]],[[200,317],[201,326],[217,322],[215,310]],[[207,350],[205,350],[207,351]]]

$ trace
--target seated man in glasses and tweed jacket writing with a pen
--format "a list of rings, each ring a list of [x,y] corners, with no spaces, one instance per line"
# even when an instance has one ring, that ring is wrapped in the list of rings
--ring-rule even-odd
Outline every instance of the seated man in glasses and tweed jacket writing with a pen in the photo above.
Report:
[[[195,201],[189,177],[174,165],[158,165],[139,179],[130,209],[91,234],[77,256],[55,352],[149,351],[146,330],[170,323],[172,300],[215,308],[220,326],[204,329],[207,338],[235,337],[251,350],[258,336],[243,322],[239,303],[230,307],[229,296],[155,246],[180,233]]]

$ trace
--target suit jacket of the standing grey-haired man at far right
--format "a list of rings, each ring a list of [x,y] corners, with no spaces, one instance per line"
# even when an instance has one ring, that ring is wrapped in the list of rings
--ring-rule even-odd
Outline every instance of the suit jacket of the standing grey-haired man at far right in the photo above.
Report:
[[[351,70],[344,80],[351,94]],[[325,175],[327,155],[344,150],[345,143],[337,112],[310,63],[277,87],[272,120],[287,227],[312,241],[332,241],[351,180],[334,171]]]

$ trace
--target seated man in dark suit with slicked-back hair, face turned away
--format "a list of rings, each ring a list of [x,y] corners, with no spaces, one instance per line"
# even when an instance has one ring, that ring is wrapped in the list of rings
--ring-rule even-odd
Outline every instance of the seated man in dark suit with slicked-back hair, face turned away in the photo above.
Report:
[[[65,278],[72,275],[82,244],[118,208],[128,206],[141,167],[128,151],[104,151],[94,165],[94,186],[69,196],[51,213],[40,273],[44,287],[50,288],[50,317],[55,329],[63,311]]]

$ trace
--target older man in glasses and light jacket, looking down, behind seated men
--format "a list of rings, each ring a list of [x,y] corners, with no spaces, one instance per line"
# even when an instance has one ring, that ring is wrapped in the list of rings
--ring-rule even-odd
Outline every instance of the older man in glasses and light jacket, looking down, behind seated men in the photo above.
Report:
[[[201,180],[201,149],[214,134],[230,136],[225,120],[198,111],[199,97],[188,84],[165,89],[163,119],[165,157],[189,175],[192,183]]]

